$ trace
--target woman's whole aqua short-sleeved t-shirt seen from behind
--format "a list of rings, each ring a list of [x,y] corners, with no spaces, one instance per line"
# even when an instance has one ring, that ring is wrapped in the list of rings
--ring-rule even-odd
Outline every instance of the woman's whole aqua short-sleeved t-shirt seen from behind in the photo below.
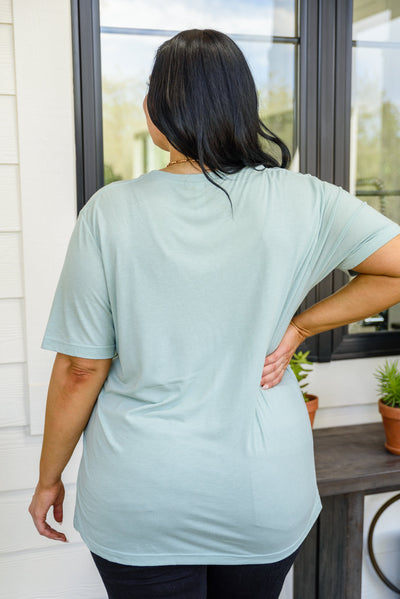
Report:
[[[301,544],[321,510],[312,432],[290,368],[260,387],[264,359],[312,287],[400,234],[311,175],[217,180],[233,217],[203,174],[107,185],[68,247],[42,347],[113,358],[74,518],[110,561],[268,563]]]

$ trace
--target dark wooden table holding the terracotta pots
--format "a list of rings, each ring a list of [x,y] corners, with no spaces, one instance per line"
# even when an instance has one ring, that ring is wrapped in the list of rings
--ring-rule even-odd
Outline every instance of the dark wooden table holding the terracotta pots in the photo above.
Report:
[[[400,489],[382,423],[316,429],[323,509],[294,563],[294,599],[360,599],[364,496]],[[383,583],[382,583],[383,584]]]

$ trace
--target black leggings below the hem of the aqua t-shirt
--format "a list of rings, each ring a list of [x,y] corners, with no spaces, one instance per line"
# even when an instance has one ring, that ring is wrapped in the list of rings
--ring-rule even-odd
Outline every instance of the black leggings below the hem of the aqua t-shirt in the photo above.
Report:
[[[109,599],[278,599],[300,547],[272,564],[125,566],[92,553]]]

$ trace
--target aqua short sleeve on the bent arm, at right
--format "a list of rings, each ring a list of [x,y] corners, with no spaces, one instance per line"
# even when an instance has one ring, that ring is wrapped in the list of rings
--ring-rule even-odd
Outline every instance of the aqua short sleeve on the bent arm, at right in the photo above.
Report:
[[[335,268],[352,270],[397,235],[397,223],[342,187],[322,183],[315,265],[318,280]]]

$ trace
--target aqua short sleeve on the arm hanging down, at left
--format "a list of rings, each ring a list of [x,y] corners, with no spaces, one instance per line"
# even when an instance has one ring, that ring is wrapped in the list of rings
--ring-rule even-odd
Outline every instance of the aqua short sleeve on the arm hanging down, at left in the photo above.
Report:
[[[41,347],[80,358],[115,355],[102,256],[84,210],[68,245]]]

